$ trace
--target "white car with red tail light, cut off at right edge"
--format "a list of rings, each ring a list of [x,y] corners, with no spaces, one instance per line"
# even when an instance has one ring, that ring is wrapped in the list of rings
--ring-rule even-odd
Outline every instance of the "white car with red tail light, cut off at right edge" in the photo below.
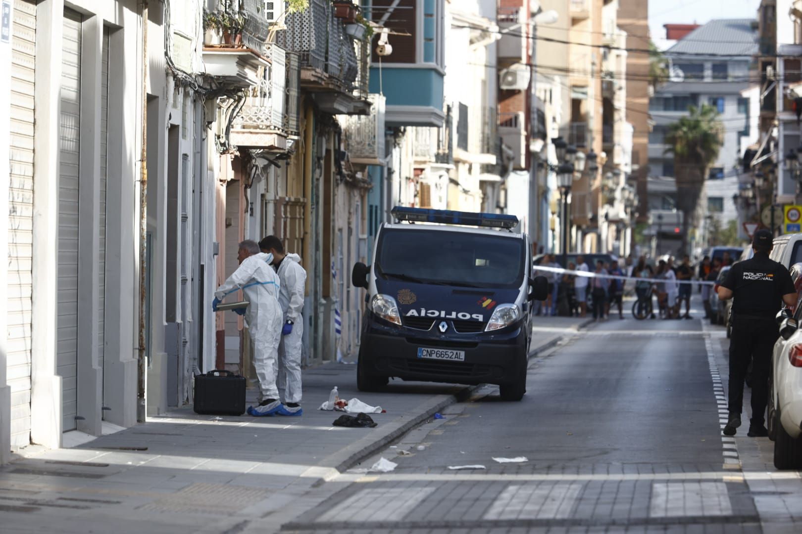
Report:
[[[774,344],[768,383],[768,437],[774,440],[774,466],[802,468],[802,263],[791,268],[799,298],[778,315],[780,337]]]

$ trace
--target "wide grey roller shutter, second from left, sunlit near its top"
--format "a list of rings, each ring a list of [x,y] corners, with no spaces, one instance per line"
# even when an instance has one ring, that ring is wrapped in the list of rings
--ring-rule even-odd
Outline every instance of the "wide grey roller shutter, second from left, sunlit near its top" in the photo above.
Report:
[[[59,128],[59,298],[57,363],[63,429],[75,429],[78,404],[78,183],[81,116],[81,16],[64,10]]]

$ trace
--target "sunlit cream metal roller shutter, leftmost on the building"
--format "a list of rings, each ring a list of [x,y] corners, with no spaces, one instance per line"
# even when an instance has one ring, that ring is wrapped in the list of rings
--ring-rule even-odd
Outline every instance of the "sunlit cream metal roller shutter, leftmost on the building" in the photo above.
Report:
[[[14,2],[11,40],[8,221],[8,383],[11,446],[30,444],[30,266],[34,211],[34,54],[36,5]]]

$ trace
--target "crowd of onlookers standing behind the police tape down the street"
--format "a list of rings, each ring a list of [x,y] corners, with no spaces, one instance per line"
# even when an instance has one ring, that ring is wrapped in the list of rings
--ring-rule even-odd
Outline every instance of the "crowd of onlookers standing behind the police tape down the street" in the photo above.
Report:
[[[728,253],[722,259],[712,259],[705,256],[697,267],[691,265],[689,256],[683,257],[682,262],[675,264],[674,258],[665,256],[650,261],[646,256],[634,261],[632,256],[619,263],[613,256],[610,261],[597,259],[595,263],[585,262],[583,255],[577,255],[576,261],[569,261],[565,272],[541,271],[549,280],[549,298],[536,308],[538,315],[564,315],[587,317],[606,320],[610,318],[610,311],[618,311],[618,318],[624,319],[623,296],[634,294],[638,302],[648,299],[650,317],[659,316],[665,319],[692,319],[691,293],[695,284],[693,280],[713,281],[719,275],[721,267],[731,265]],[[559,269],[553,254],[543,257],[541,267]],[[579,273],[593,273],[592,276],[583,276]],[[705,319],[711,315],[709,296],[711,285],[701,285],[703,303],[705,306]],[[652,298],[656,298],[657,306],[651,306]],[[683,313],[684,303],[684,313]]]

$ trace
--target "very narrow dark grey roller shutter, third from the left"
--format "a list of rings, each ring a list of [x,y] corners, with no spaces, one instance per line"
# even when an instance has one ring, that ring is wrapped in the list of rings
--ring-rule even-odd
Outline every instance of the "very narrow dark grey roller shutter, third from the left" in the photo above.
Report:
[[[103,28],[103,58],[100,78],[100,257],[98,291],[98,364],[103,372],[103,395],[105,395],[104,355],[106,344],[106,181],[108,146],[108,28]],[[105,412],[103,412],[105,413]]]

